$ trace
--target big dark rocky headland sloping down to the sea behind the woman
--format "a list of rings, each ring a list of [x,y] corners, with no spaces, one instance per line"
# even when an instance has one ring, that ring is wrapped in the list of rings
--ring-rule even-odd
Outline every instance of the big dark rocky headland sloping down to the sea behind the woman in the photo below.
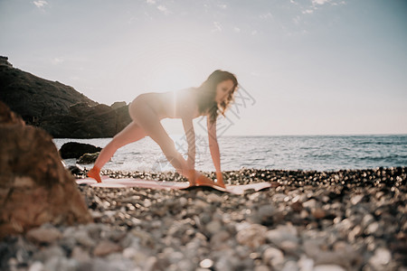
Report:
[[[33,126],[53,137],[92,138],[116,135],[128,123],[125,102],[101,105],[58,81],[14,69],[0,57],[0,100]]]

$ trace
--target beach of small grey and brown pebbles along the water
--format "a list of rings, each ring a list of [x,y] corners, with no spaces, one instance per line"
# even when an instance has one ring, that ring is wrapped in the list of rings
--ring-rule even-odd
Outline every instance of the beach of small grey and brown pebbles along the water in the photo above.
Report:
[[[171,172],[102,174],[185,181]],[[0,269],[407,270],[407,167],[243,168],[223,178],[273,187],[234,195],[79,185],[94,223],[45,224],[6,237]]]

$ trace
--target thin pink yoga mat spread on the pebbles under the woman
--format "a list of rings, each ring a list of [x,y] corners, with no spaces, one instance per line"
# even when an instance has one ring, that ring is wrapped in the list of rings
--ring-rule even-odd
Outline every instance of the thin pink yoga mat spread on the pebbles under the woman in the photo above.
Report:
[[[102,182],[96,182],[92,178],[77,179],[78,184],[89,184],[93,187],[107,187],[107,188],[127,188],[127,187],[140,187],[151,189],[194,189],[195,187],[213,188],[221,192],[230,192],[232,194],[243,194],[247,190],[260,191],[262,189],[276,187],[278,184],[270,182],[257,182],[244,185],[226,185],[226,189],[216,185],[201,184],[190,187],[189,182],[166,182],[166,181],[154,181],[143,180],[135,178],[123,178],[123,179],[111,179],[107,176],[102,176]]]

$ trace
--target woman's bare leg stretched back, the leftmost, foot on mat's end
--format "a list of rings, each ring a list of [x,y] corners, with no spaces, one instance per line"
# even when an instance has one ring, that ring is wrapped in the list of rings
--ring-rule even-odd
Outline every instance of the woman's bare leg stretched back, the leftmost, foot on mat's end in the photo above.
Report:
[[[106,145],[100,152],[98,159],[93,166],[93,168],[88,173],[88,176],[101,182],[100,179],[100,169],[108,163],[113,154],[116,153],[118,148],[128,145],[132,142],[136,142],[141,138],[146,136],[146,132],[139,126],[135,121],[132,121],[128,126],[126,126],[118,135],[115,135],[113,139]]]

